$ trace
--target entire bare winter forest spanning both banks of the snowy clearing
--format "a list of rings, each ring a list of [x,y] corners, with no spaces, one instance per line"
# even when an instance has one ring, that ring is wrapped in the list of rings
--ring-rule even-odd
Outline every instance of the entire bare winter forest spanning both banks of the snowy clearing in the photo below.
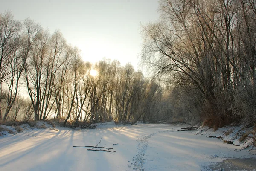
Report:
[[[160,0],[159,20],[141,26],[151,77],[119,61],[83,61],[60,30],[0,14],[0,120],[253,126],[255,3]]]

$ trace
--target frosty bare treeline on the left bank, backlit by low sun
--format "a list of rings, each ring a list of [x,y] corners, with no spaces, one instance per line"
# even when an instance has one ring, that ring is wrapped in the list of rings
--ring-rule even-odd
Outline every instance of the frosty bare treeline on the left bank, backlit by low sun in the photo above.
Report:
[[[131,64],[85,62],[59,30],[0,14],[0,120],[159,120],[162,96],[160,84]]]

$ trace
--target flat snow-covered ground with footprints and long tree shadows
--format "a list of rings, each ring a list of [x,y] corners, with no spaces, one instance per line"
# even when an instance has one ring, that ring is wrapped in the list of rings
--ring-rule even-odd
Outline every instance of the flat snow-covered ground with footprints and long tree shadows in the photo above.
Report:
[[[0,137],[0,171],[209,171],[209,165],[227,158],[256,157],[221,139],[176,131],[183,126],[113,126],[24,128],[6,134]],[[99,146],[116,152],[73,147],[95,146],[100,140]]]

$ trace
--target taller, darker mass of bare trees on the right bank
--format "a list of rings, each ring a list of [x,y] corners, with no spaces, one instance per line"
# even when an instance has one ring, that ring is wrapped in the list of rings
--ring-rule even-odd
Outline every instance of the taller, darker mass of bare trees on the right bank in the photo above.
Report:
[[[142,58],[169,81],[175,110],[215,128],[255,123],[255,0],[160,0],[159,10]]]

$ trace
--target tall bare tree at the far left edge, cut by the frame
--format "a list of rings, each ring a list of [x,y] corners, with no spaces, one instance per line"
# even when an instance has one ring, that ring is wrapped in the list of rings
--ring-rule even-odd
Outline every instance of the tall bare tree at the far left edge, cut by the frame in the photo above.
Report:
[[[18,81],[23,70],[20,59],[20,22],[13,19],[10,12],[0,14],[0,119],[2,119],[3,87],[9,87],[6,95],[7,108],[5,120],[18,91]],[[17,76],[17,77],[16,77]],[[10,84],[9,84],[10,83]]]

